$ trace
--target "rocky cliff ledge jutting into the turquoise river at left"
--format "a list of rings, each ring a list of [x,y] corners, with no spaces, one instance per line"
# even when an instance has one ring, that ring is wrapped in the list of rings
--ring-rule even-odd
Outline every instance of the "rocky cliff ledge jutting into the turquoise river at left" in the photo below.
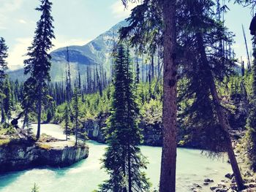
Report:
[[[69,166],[87,158],[87,145],[73,142],[16,141],[0,146],[0,172],[18,171],[37,166]]]

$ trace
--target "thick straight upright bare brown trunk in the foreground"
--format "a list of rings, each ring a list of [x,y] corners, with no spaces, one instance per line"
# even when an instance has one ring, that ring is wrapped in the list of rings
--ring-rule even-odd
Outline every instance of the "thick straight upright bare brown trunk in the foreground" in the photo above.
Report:
[[[165,20],[164,31],[164,94],[163,146],[160,192],[176,191],[176,1],[159,0]]]

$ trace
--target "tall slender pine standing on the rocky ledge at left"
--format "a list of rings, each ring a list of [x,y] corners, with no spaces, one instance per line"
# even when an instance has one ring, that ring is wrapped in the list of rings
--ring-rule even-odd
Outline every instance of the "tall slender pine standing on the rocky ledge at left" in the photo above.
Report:
[[[49,0],[40,0],[37,11],[42,15],[37,22],[34,40],[31,47],[28,48],[29,56],[24,61],[25,74],[30,74],[26,82],[34,86],[34,95],[32,98],[37,102],[37,139],[40,137],[40,123],[42,115],[42,101],[46,98],[47,82],[50,81],[50,59],[48,51],[53,47],[51,40],[53,34],[53,17],[50,15],[52,3]]]

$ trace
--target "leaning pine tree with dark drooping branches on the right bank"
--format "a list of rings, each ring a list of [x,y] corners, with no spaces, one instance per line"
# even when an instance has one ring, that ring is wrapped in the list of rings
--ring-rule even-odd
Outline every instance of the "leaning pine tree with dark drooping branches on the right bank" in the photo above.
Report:
[[[221,82],[226,74],[230,74],[233,66],[233,62],[224,57],[228,50],[219,47],[219,42],[232,43],[232,39],[229,38],[231,36],[224,26],[214,20],[210,12],[212,6],[214,6],[213,1],[185,0],[182,2],[185,17],[179,20],[181,23],[179,27],[190,28],[189,31],[183,31],[184,42],[187,42],[184,47],[187,47],[188,60],[192,65],[190,66],[192,70],[186,72],[186,77],[189,79],[186,94],[189,99],[194,98],[192,107],[189,107],[189,116],[195,117],[193,111],[198,114],[195,120],[198,121],[199,117],[200,122],[206,128],[208,142],[206,147],[209,147],[209,150],[216,153],[227,152],[238,189],[242,190],[244,184],[230,139],[230,125],[216,85],[216,81]],[[217,121],[213,122],[214,119]],[[206,126],[208,122],[210,124]]]

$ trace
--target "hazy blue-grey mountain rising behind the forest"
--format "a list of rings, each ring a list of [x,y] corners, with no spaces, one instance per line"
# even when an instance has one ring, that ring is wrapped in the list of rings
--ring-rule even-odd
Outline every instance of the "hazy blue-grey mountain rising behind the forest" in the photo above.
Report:
[[[99,37],[83,46],[69,46],[70,73],[73,80],[77,77],[80,70],[81,79],[85,80],[86,70],[88,68],[95,69],[96,66],[102,65],[105,72],[110,72],[111,57],[113,50],[113,39],[118,37],[118,29],[127,26],[126,21],[117,23],[116,26],[110,28]],[[52,66],[50,69],[50,77],[52,82],[60,82],[65,80],[67,70],[67,47],[61,47],[50,53],[52,56]],[[24,81],[26,75],[23,69],[17,69],[8,72],[12,80]]]

